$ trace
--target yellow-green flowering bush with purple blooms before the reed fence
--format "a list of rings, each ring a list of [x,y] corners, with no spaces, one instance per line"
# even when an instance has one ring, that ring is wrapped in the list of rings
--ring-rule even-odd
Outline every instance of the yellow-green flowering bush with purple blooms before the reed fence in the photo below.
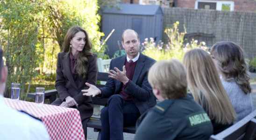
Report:
[[[164,42],[158,42],[156,44],[153,38],[146,38],[145,42],[142,43],[142,53],[144,55],[150,56],[156,61],[159,60],[169,60],[171,58],[176,58],[182,61],[185,53],[191,49],[201,48],[207,50],[205,42],[199,42],[197,40],[192,39],[190,43],[184,44],[184,36],[185,32],[179,33],[178,30],[179,22],[173,23],[171,28],[166,28],[164,33],[168,36],[168,43],[164,44]]]

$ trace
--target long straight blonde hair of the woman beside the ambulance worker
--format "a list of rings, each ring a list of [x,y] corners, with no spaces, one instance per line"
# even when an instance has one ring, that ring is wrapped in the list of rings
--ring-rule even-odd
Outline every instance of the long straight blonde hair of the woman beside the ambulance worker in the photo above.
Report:
[[[225,91],[211,56],[203,49],[188,51],[183,62],[187,68],[188,88],[208,116],[223,125],[235,121],[236,113]]]

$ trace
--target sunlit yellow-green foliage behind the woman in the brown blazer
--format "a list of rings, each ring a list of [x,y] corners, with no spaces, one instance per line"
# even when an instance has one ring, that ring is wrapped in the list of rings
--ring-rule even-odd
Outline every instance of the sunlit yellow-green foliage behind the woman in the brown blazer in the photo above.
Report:
[[[57,53],[74,25],[88,32],[93,52],[107,57],[107,46],[100,43],[98,8],[97,0],[0,0],[0,44],[9,70],[7,96],[15,82],[21,83],[20,97],[25,99],[25,84],[29,89],[39,73],[55,72]]]

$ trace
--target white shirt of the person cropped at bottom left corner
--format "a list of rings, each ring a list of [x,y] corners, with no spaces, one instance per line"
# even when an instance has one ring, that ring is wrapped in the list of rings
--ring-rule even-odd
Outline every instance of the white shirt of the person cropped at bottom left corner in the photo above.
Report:
[[[43,123],[7,105],[0,95],[1,140],[50,140]]]

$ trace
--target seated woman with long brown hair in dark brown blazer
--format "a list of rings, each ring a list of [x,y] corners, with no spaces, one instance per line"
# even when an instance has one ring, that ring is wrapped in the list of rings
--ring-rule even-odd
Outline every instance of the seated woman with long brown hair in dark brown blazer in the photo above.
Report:
[[[56,82],[59,98],[51,105],[77,108],[86,138],[86,123],[93,113],[91,97],[83,96],[81,90],[88,89],[85,83],[95,85],[97,79],[97,55],[85,29],[70,28],[65,36],[63,52],[58,54]]]

